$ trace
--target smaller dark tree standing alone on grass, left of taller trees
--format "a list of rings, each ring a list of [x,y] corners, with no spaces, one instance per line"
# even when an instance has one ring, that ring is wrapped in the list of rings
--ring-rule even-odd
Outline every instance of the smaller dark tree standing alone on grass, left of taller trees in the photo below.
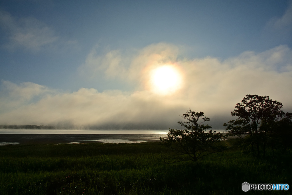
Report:
[[[160,140],[170,149],[173,149],[178,156],[171,162],[194,161],[213,153],[224,150],[224,146],[218,144],[224,139],[223,133],[207,129],[210,125],[203,123],[210,118],[204,117],[203,112],[194,112],[191,109],[182,116],[186,122],[178,122],[184,130],[169,129],[167,138]],[[201,119],[200,119],[201,118]]]

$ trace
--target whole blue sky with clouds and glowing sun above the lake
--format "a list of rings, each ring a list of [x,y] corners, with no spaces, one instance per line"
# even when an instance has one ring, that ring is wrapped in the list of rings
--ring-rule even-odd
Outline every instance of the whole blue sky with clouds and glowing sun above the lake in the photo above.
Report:
[[[0,125],[213,129],[246,94],[292,111],[292,1],[0,1]]]

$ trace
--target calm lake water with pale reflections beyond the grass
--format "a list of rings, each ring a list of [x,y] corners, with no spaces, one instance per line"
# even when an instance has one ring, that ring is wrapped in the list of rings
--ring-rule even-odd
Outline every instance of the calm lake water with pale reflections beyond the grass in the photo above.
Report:
[[[1,129],[0,146],[15,144],[140,143],[165,138],[168,130]]]

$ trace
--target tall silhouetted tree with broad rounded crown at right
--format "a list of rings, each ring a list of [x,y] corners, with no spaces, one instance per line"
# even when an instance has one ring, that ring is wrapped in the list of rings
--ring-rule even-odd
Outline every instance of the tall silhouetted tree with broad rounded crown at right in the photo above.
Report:
[[[237,116],[236,120],[230,120],[224,124],[228,135],[239,136],[249,140],[254,155],[265,156],[268,140],[277,134],[277,126],[289,113],[281,111],[283,107],[279,101],[273,101],[269,96],[246,95],[236,104],[231,116]]]

